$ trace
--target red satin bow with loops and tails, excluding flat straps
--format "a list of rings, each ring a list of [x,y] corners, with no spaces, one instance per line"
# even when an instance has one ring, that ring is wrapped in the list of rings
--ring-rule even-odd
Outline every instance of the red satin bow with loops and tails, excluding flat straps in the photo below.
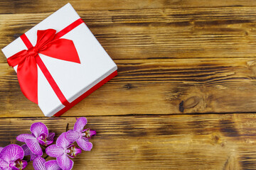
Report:
[[[18,65],[17,77],[21,91],[30,101],[38,104],[38,70],[41,61],[38,53],[68,62],[80,63],[78,52],[72,40],[58,38],[56,30],[38,30],[35,47],[22,50],[9,57],[11,67]]]

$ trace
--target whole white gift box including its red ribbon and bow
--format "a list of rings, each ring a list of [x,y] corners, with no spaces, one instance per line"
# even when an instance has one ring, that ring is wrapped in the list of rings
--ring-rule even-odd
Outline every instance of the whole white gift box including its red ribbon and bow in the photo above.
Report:
[[[78,13],[66,4],[2,49],[23,94],[59,116],[117,75]]]

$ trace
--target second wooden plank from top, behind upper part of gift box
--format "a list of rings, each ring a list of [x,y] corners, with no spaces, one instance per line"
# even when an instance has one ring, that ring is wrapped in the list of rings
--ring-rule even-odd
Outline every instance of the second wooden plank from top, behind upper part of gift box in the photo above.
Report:
[[[255,7],[78,13],[113,60],[256,56]],[[48,15],[0,15],[0,48]],[[6,62],[2,53],[0,62]]]

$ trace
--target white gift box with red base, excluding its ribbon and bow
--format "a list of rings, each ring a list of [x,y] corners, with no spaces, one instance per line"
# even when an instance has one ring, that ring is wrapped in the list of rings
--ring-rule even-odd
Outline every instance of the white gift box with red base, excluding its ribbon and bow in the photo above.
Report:
[[[80,16],[78,16],[74,8],[70,4],[66,4],[41,21],[41,23],[28,30],[25,35],[31,44],[35,46],[38,30],[51,28],[58,33],[79,18]],[[61,115],[117,74],[117,65],[107,55],[107,52],[105,52],[95,36],[92,35],[85,23],[81,23],[61,38],[73,40],[80,64],[39,54],[60,91],[70,103],[69,106],[64,106],[60,102],[43,72],[37,66],[38,106],[46,116]],[[6,58],[9,58],[21,50],[28,50],[28,48],[21,38],[17,38],[4,47],[2,52],[4,52]],[[17,67],[14,67],[16,72]]]

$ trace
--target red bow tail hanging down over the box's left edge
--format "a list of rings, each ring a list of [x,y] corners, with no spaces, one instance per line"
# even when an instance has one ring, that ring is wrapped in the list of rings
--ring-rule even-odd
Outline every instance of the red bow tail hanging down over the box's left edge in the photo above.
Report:
[[[35,57],[26,57],[17,70],[21,91],[33,103],[38,104],[38,69]]]

